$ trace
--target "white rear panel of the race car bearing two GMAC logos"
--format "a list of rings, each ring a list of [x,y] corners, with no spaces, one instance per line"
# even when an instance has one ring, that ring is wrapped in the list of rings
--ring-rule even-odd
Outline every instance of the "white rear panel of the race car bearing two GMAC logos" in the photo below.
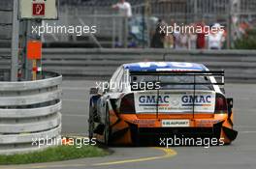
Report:
[[[213,113],[215,107],[214,92],[208,94],[178,94],[160,92],[159,95],[153,92],[135,94],[137,113],[191,113],[205,112]]]

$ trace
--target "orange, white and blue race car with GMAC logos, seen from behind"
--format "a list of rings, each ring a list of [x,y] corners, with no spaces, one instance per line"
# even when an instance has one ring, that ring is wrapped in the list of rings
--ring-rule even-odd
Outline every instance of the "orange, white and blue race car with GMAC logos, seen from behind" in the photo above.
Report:
[[[89,137],[106,145],[140,145],[174,135],[230,144],[238,135],[223,70],[140,62],[120,66],[102,84],[90,89],[88,125]]]

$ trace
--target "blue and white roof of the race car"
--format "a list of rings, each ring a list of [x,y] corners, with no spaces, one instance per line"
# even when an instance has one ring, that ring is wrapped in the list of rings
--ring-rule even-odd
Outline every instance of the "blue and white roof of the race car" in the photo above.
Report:
[[[123,65],[130,71],[161,71],[161,70],[207,70],[202,64],[187,62],[138,62]]]

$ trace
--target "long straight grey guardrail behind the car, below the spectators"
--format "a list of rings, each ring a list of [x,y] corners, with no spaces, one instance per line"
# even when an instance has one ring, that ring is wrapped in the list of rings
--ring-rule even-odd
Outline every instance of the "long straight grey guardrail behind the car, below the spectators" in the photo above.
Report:
[[[1,53],[1,49],[0,49]],[[256,82],[256,50],[47,48],[43,69],[68,78],[109,78],[119,65],[140,61],[195,62],[225,70],[228,82]],[[7,60],[0,66],[7,67]]]

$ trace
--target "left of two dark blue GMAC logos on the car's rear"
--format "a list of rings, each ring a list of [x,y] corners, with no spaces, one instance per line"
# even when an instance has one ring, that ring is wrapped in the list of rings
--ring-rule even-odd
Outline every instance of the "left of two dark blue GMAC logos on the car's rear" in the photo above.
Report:
[[[140,103],[169,103],[169,96],[141,96],[139,98]]]

